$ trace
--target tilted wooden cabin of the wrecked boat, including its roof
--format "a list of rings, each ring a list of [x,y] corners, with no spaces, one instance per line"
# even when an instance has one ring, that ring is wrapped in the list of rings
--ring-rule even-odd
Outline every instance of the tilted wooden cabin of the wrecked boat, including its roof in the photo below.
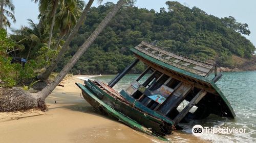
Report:
[[[129,87],[120,91],[120,96],[125,100],[139,102],[140,109],[152,110],[175,124],[183,118],[200,119],[211,113],[235,116],[223,93],[215,85],[221,77],[217,75],[215,65],[166,51],[145,41],[131,51],[137,59],[108,84],[113,87],[138,61],[146,64],[143,73]],[[209,80],[207,77],[212,72],[215,78]],[[140,82],[143,77],[146,80]],[[188,104],[178,109],[181,103]],[[191,111],[193,107],[195,111]]]

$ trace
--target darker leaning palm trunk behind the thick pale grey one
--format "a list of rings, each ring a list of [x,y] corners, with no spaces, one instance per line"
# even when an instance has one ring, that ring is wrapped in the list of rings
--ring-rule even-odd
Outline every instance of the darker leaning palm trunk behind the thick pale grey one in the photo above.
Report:
[[[69,34],[65,44],[62,46],[61,50],[59,51],[57,57],[51,63],[51,65],[46,69],[46,71],[38,76],[38,79],[40,79],[42,81],[46,81],[49,78],[49,76],[51,75],[52,71],[56,67],[57,63],[61,60],[62,55],[68,50],[69,44],[70,44],[71,40],[73,39],[73,37],[75,36],[75,34],[77,33],[79,27],[82,25],[82,23],[86,19],[86,15],[87,15],[88,11],[90,10],[90,8],[91,8],[91,6],[93,4],[93,1],[94,0],[90,0],[88,2],[88,4],[86,5],[86,8],[84,8],[84,10],[83,10],[79,20],[77,21],[75,27],[70,32],[70,34]]]

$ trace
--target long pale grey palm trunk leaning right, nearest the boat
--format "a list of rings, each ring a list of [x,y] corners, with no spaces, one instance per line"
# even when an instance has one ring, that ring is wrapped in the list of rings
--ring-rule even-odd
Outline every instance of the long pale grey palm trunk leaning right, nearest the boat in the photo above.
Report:
[[[54,81],[46,86],[41,91],[35,93],[33,96],[37,99],[45,99],[53,91],[53,89],[60,83],[60,81],[69,73],[71,68],[76,64],[78,59],[82,56],[88,47],[94,42],[98,35],[102,32],[110,20],[115,16],[119,9],[126,3],[126,0],[119,0],[116,6],[106,15],[106,17],[100,22],[99,26],[94,30],[90,37],[84,42],[76,52],[76,54],[70,59],[70,61],[63,67],[59,75],[54,79]]]

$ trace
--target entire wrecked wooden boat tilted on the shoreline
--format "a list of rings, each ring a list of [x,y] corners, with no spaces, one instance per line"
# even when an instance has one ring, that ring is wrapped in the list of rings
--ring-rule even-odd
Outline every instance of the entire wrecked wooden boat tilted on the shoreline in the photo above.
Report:
[[[82,95],[95,109],[118,118],[144,133],[163,136],[180,122],[197,120],[209,114],[234,118],[229,102],[216,86],[221,74],[215,65],[190,59],[142,41],[131,51],[136,60],[108,84],[100,81],[76,83]],[[147,68],[125,90],[113,86],[139,61]],[[214,79],[207,77],[212,72]],[[142,79],[145,79],[142,81]],[[180,107],[186,101],[188,104]],[[193,112],[191,109],[196,108]]]

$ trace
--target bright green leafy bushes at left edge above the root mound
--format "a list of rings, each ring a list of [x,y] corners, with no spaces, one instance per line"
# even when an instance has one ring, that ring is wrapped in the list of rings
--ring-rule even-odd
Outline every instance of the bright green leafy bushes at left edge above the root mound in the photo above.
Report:
[[[11,64],[13,51],[20,51],[24,47],[17,44],[11,38],[7,38],[6,31],[0,30],[0,86],[13,87],[18,83],[32,79],[36,76],[35,69],[38,64],[34,60],[28,61],[24,69],[20,64]]]

